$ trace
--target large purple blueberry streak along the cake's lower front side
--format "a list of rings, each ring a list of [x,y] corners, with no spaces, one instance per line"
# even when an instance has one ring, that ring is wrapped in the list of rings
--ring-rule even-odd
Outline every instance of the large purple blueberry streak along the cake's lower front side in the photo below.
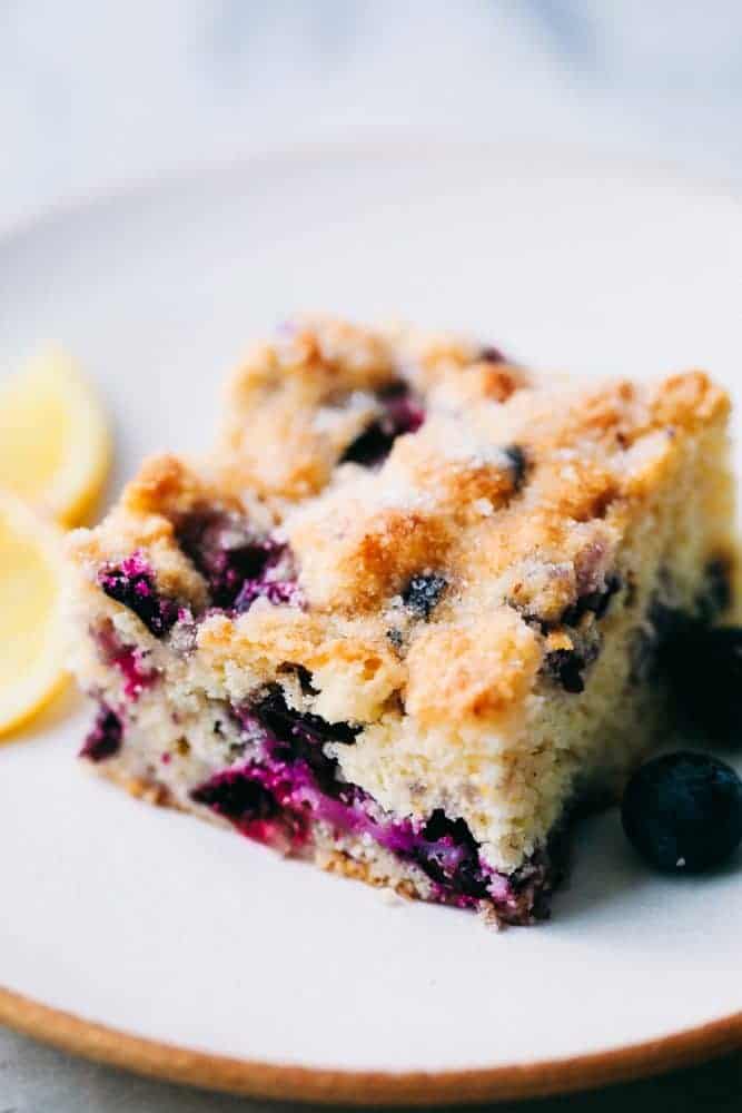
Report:
[[[353,745],[358,728],[294,711],[277,690],[257,705],[235,708],[234,716],[256,743],[256,757],[215,774],[191,796],[243,834],[299,853],[310,841],[310,824],[319,821],[345,835],[367,835],[417,866],[439,903],[472,908],[491,900],[512,923],[546,915],[545,903],[537,903],[543,867],[530,864],[513,877],[497,874],[463,819],[442,810],[427,820],[392,819],[362,788],[342,780],[324,745]]]

